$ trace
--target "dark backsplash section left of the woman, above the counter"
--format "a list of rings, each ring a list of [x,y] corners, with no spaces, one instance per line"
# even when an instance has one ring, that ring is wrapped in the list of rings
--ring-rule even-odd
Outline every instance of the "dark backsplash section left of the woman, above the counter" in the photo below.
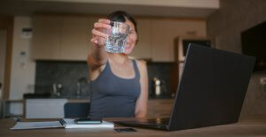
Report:
[[[36,61],[35,92],[52,94],[55,84],[62,96],[88,96],[90,92],[88,72],[86,62]]]

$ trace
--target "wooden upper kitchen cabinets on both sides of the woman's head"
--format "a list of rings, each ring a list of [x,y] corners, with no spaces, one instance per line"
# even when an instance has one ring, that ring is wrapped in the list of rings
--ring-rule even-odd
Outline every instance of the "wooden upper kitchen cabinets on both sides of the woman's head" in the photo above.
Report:
[[[32,57],[49,60],[86,60],[91,30],[98,17],[35,15]],[[154,62],[174,62],[175,42],[180,36],[206,36],[201,19],[137,19],[138,42],[130,57]]]

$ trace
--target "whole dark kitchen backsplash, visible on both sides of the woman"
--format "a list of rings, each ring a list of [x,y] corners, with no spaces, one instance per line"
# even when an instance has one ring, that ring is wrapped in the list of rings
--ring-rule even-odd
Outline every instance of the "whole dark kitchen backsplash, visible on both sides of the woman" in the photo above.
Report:
[[[149,97],[154,98],[153,78],[160,80],[161,94],[157,98],[169,98],[171,70],[174,63],[148,62]],[[35,93],[53,93],[53,85],[59,85],[60,95],[74,97],[77,95],[89,96],[89,71],[86,62],[76,61],[36,61]],[[80,84],[77,84],[77,83]],[[78,86],[79,85],[79,86]],[[81,91],[81,92],[79,92]]]

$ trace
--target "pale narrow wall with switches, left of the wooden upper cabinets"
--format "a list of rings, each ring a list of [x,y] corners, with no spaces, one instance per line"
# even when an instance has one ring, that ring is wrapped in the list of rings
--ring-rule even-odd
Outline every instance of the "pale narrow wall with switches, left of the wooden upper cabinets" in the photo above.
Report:
[[[10,85],[10,99],[22,99],[27,92],[34,92],[35,62],[30,59],[31,39],[21,35],[22,27],[31,27],[30,17],[15,17],[12,46],[12,76]],[[24,53],[21,53],[24,52]],[[11,106],[12,114],[22,113],[22,104]]]

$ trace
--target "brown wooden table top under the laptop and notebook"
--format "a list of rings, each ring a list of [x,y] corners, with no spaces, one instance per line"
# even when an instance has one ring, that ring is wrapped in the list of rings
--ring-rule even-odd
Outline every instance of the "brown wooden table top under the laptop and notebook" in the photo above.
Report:
[[[107,121],[118,120],[121,118],[109,118]],[[44,121],[51,119],[22,119],[22,121]],[[15,121],[12,118],[0,119],[0,137],[14,137],[14,136],[34,136],[34,137],[82,137],[82,136],[96,136],[96,137],[120,137],[120,136],[132,136],[132,137],[160,137],[160,136],[176,136],[176,137],[255,137],[266,136],[266,118],[255,118],[250,120],[242,120],[236,124],[223,125],[223,126],[208,126],[196,129],[180,130],[175,132],[158,131],[151,129],[142,129],[134,127],[137,132],[134,133],[116,133],[113,129],[34,129],[34,130],[19,130],[12,131],[9,128],[14,126]],[[115,126],[115,128],[121,128],[125,126]]]

